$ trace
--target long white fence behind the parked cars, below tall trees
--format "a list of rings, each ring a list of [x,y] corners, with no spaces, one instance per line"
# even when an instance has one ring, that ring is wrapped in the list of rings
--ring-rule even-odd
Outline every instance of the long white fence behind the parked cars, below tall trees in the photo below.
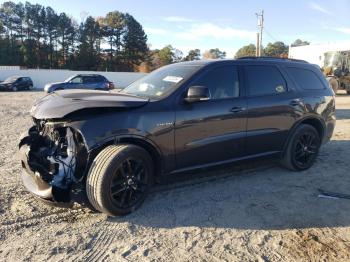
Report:
[[[25,69],[16,67],[0,67],[0,81],[10,76],[29,76],[33,80],[34,88],[43,89],[47,83],[62,82],[75,74],[101,74],[113,82],[116,88],[124,88],[130,83],[144,76],[144,73],[132,72],[92,72],[92,71],[70,71],[57,69]]]

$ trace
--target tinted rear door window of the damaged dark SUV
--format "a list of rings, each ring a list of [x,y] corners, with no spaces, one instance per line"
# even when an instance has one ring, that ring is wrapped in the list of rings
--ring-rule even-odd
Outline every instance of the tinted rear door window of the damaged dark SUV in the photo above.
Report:
[[[248,95],[274,95],[287,90],[286,82],[275,66],[246,66],[245,67]]]

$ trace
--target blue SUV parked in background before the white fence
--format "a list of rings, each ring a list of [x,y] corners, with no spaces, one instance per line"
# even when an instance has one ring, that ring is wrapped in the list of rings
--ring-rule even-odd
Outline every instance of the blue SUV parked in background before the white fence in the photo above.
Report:
[[[71,76],[64,82],[50,83],[44,87],[48,93],[63,89],[111,90],[114,89],[114,84],[102,75],[79,74]]]

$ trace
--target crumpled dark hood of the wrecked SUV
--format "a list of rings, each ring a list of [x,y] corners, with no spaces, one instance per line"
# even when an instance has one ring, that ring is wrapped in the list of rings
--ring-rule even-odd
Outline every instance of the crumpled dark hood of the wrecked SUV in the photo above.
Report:
[[[91,108],[132,108],[149,100],[127,94],[95,90],[61,90],[35,102],[30,113],[36,119],[64,118],[66,115]]]

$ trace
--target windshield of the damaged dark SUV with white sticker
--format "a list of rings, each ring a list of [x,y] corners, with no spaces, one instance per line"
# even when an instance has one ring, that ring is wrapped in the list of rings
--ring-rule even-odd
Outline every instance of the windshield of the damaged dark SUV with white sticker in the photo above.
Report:
[[[173,88],[187,79],[199,66],[173,64],[161,67],[132,83],[121,93],[147,98],[159,98],[170,93]]]

